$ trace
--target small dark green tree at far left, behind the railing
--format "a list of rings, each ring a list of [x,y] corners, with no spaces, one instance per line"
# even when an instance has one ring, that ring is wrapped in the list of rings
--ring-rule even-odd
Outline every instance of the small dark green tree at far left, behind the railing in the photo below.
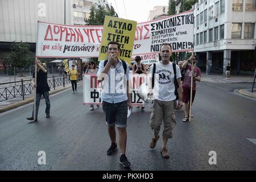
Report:
[[[30,52],[30,44],[28,43],[16,43],[11,45],[11,53],[8,56],[3,57],[3,64],[11,65],[20,69],[21,76],[23,76],[24,66],[27,66],[32,61],[32,52]]]

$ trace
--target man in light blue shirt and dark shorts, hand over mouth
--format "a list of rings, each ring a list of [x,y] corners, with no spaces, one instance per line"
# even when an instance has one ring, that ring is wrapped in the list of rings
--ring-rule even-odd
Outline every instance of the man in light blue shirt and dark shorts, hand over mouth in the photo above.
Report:
[[[123,167],[129,167],[130,162],[127,160],[126,141],[127,141],[127,109],[131,110],[131,94],[129,93],[129,65],[123,66],[123,62],[118,59],[120,44],[118,42],[109,42],[108,59],[101,61],[97,73],[97,80],[104,81],[101,92],[102,109],[106,115],[108,132],[111,140],[107,154],[114,154],[117,150],[115,126],[119,134],[119,147],[121,157],[119,163]]]

